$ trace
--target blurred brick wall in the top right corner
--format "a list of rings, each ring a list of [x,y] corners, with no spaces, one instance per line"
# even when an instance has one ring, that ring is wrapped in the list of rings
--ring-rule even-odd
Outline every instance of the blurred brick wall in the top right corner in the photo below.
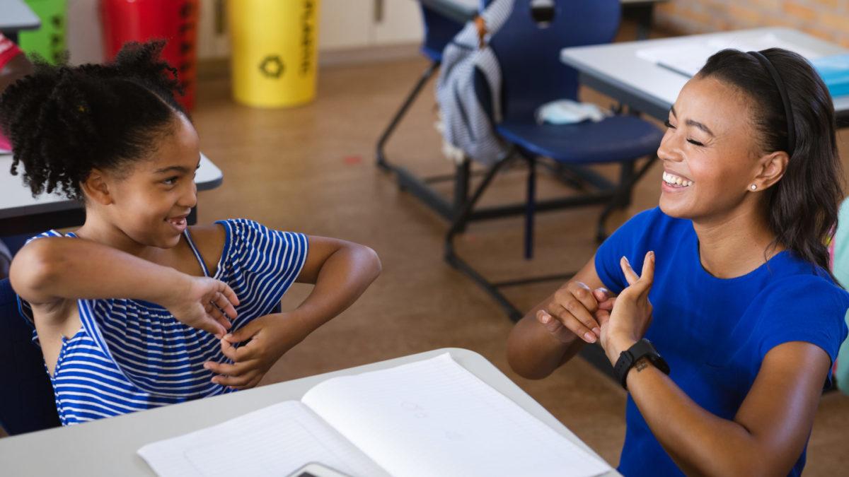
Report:
[[[788,26],[849,48],[849,0],[670,0],[655,25],[682,34]]]

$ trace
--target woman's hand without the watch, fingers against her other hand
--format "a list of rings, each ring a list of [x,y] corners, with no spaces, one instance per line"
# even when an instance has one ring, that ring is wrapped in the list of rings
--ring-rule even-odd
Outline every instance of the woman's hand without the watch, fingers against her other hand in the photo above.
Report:
[[[537,311],[537,321],[563,343],[571,343],[575,336],[595,343],[601,336],[595,315],[600,310],[612,310],[615,301],[607,289],[591,290],[586,283],[573,280],[554,292],[552,300]]]

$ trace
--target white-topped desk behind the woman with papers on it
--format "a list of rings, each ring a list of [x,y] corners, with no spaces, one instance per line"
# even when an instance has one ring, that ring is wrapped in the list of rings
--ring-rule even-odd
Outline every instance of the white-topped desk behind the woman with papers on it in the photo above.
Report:
[[[687,45],[690,42],[706,42],[711,39],[728,40],[745,45],[746,42],[773,34],[784,42],[822,55],[849,53],[829,42],[806,35],[790,28],[758,28],[753,30],[723,31],[706,35],[678,36],[643,42],[611,43],[589,47],[564,48],[560,59],[578,70],[578,81],[604,93],[622,104],[627,104],[647,115],[665,121],[669,109],[678,98],[688,76],[666,70],[658,65],[638,58],[643,48]],[[839,126],[849,126],[849,96],[834,98]]]

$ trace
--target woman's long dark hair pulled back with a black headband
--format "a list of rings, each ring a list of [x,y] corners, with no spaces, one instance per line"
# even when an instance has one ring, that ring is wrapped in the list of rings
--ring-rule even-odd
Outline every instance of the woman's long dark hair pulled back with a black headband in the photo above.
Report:
[[[761,53],[784,83],[796,134],[796,147],[788,151],[792,155],[784,177],[766,192],[769,227],[779,244],[828,271],[825,243],[836,227],[843,199],[834,104],[822,79],[799,54],[781,48]],[[781,93],[755,55],[722,50],[707,60],[698,77],[716,78],[751,98],[751,119],[762,152],[788,150]]]

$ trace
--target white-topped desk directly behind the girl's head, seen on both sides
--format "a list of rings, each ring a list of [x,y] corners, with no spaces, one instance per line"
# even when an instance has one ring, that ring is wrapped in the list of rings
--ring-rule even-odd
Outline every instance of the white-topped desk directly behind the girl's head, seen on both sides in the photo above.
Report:
[[[82,204],[59,194],[42,194],[33,198],[30,188],[23,184],[20,168],[19,175],[13,176],[9,173],[11,166],[12,155],[0,154],[0,236],[41,233],[51,228],[76,227],[85,222]],[[198,190],[216,188],[221,185],[222,179],[221,169],[201,153],[200,169],[194,177]],[[194,218],[194,211],[190,218]]]

